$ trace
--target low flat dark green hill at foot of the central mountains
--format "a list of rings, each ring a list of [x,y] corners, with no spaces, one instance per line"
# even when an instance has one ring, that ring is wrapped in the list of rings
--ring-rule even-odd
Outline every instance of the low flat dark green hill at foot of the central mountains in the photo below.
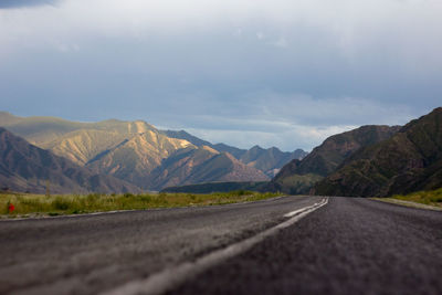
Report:
[[[266,181],[244,181],[244,182],[207,182],[200,185],[188,185],[181,187],[168,187],[162,192],[186,192],[186,193],[212,193],[229,192],[235,190],[261,191]]]

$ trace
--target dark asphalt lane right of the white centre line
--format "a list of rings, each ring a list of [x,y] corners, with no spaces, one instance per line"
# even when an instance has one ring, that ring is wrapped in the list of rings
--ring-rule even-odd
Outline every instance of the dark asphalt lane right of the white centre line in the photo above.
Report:
[[[442,294],[442,212],[328,204],[169,294]]]

